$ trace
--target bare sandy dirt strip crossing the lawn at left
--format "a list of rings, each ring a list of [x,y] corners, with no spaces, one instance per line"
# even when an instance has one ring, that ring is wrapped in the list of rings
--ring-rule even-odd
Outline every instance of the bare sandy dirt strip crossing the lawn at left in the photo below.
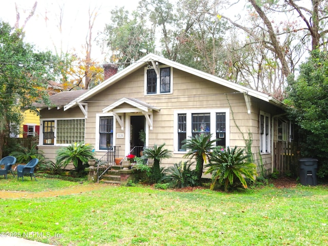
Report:
[[[61,190],[54,191],[40,191],[40,192],[27,192],[27,191],[0,191],[0,199],[6,198],[38,198],[38,197],[56,197],[84,193],[93,190],[100,190],[107,184],[92,183],[84,186],[68,187]]]

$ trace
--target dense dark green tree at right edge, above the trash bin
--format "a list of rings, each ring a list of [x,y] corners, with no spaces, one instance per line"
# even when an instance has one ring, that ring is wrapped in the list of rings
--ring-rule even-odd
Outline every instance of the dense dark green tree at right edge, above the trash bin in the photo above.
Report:
[[[328,175],[328,57],[327,52],[314,50],[300,66],[297,79],[289,77],[288,97],[290,115],[300,127],[301,154],[318,158],[320,175]],[[326,168],[324,168],[326,167]]]

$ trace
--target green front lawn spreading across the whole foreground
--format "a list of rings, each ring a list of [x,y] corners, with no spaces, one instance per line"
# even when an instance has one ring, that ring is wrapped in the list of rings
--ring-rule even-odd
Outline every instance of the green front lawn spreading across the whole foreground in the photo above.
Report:
[[[29,183],[32,189],[35,182]],[[77,195],[0,199],[0,213],[1,231],[55,245],[328,244],[323,186],[230,194],[105,186]]]

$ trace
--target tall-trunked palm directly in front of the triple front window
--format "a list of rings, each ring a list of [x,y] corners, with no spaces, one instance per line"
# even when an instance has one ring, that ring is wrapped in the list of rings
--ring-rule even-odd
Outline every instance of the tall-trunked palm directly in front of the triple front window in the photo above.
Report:
[[[183,149],[187,149],[184,157],[196,158],[195,176],[196,183],[200,184],[201,175],[203,173],[204,162],[207,163],[207,158],[211,156],[211,151],[215,147],[215,140],[211,140],[211,135],[199,134],[192,136],[183,141]]]

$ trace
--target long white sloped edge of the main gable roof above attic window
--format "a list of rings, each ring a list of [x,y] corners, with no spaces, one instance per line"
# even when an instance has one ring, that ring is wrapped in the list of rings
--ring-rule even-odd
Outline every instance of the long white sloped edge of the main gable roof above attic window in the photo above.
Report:
[[[84,100],[94,96],[95,94],[105,90],[109,86],[115,84],[120,79],[122,79],[122,78],[128,76],[129,74],[133,73],[137,69],[145,67],[145,65],[148,65],[149,63],[156,62],[156,61],[158,63],[168,65],[168,66],[173,67],[175,69],[179,69],[179,70],[185,71],[187,73],[193,74],[195,76],[210,80],[210,81],[212,81],[212,82],[214,82],[218,85],[222,85],[222,86],[231,88],[231,89],[236,90],[238,92],[244,93],[245,95],[253,96],[253,97],[256,97],[260,100],[267,101],[268,103],[276,105],[280,108],[285,107],[284,104],[282,104],[279,100],[277,100],[276,98],[274,98],[272,96],[269,96],[267,94],[264,94],[264,93],[261,93],[261,92],[258,92],[258,91],[255,91],[255,90],[252,90],[252,89],[249,89],[249,88],[246,88],[244,86],[232,83],[231,81],[228,81],[226,79],[216,77],[214,75],[202,72],[202,71],[194,69],[194,68],[190,68],[188,66],[179,64],[175,61],[172,61],[172,60],[169,60],[169,59],[166,59],[166,58],[163,58],[163,57],[160,57],[158,55],[150,53],[150,54],[142,57],[141,59],[137,60],[135,63],[133,63],[129,67],[125,68],[124,70],[121,70],[118,73],[111,76],[110,78],[106,79],[103,83],[101,83],[98,86],[94,87],[93,89],[87,91],[83,95],[78,96],[77,98],[73,99],[67,105],[64,106],[64,110],[67,110],[71,107],[74,107],[74,106],[78,105],[81,101],[84,101]]]

